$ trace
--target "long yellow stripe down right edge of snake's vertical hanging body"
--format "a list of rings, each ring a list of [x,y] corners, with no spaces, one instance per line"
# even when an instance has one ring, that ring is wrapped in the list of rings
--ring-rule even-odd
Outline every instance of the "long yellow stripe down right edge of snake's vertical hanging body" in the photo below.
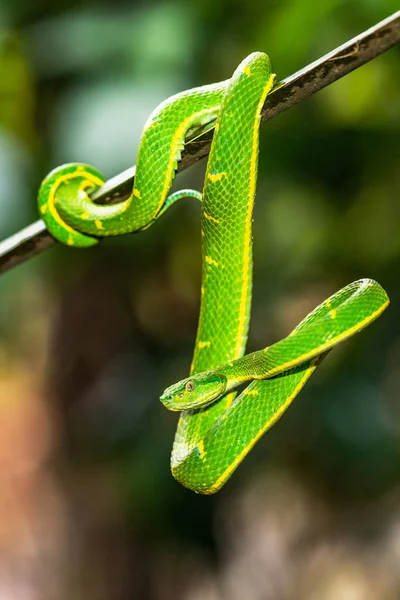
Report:
[[[261,96],[261,100],[258,104],[258,112],[261,111],[261,108],[264,106],[265,98],[267,97],[268,92],[271,90],[274,83],[275,75],[271,75],[268,79],[264,91]],[[243,277],[242,277],[242,293],[240,297],[240,305],[239,305],[239,320],[238,320],[238,328],[237,328],[237,342],[235,347],[235,356],[239,357],[242,354],[242,340],[245,338],[245,332],[247,328],[248,321],[248,309],[247,309],[247,299],[248,299],[248,290],[251,288],[251,252],[248,252],[248,248],[251,245],[251,223],[252,223],[252,214],[253,214],[253,204],[254,204],[254,196],[256,192],[256,180],[257,180],[257,156],[258,156],[258,127],[259,120],[255,119],[253,124],[253,143],[252,143],[252,153],[250,158],[250,181],[249,181],[249,202],[247,205],[247,215],[245,222],[245,233],[244,233],[244,261],[243,261]]]

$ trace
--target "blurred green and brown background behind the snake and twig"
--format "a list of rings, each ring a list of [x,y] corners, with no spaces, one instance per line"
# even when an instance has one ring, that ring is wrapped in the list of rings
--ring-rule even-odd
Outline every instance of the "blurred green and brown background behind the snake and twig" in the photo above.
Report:
[[[111,177],[149,112],[263,50],[283,78],[395,0],[1,0],[0,237],[63,162]],[[392,304],[332,352],[216,496],[169,472],[199,308],[199,207],[0,278],[3,600],[400,597],[400,49],[262,127],[249,349],[339,287]],[[201,188],[204,164],[178,177]]]

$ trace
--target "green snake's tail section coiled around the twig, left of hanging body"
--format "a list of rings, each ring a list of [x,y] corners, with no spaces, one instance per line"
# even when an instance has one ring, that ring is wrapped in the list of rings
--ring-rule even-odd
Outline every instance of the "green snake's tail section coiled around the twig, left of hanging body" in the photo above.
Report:
[[[140,139],[135,187],[127,200],[100,206],[90,199],[89,188],[82,188],[77,194],[73,183],[65,185],[65,178],[72,176],[73,167],[77,172],[83,167],[91,172],[91,167],[65,165],[52,171],[51,177],[47,176],[40,187],[38,203],[53,237],[71,246],[92,246],[98,238],[133,233],[154,223],[165,208],[183,196],[179,192],[168,198],[168,192],[187,131],[215,120],[227,83],[193,88],[168,98],[155,109]],[[99,173],[97,176],[99,181],[104,181]],[[51,191],[50,184],[56,187],[57,180],[63,185]],[[92,185],[91,189],[97,186]],[[192,191],[188,190],[187,195],[191,196]]]

